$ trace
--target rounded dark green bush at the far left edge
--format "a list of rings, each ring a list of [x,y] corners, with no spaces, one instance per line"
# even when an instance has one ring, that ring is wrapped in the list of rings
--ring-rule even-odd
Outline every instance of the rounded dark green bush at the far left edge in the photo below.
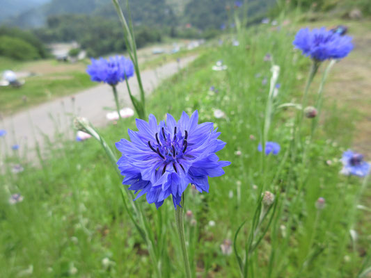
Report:
[[[0,36],[0,56],[14,58],[15,60],[33,60],[40,58],[38,50],[29,42],[8,35]]]

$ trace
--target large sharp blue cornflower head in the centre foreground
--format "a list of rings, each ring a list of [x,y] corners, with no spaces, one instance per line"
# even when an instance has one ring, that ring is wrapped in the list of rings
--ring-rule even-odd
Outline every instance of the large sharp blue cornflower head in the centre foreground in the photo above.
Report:
[[[191,118],[183,112],[176,122],[168,114],[166,123],[157,124],[154,115],[149,121],[136,119],[139,131],[129,129],[130,140],[116,143],[123,154],[118,169],[125,176],[123,184],[131,185],[136,199],[147,194],[147,202],[159,208],[172,195],[175,209],[189,183],[201,193],[209,192],[208,177],[224,174],[228,161],[219,161],[216,152],[226,145],[218,138],[212,122],[198,124],[198,112]]]

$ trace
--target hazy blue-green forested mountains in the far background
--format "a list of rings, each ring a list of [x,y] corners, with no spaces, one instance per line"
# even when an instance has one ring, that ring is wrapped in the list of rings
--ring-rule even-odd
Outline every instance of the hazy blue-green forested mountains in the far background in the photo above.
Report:
[[[249,0],[249,14],[261,15],[274,2],[275,0]],[[126,0],[120,0],[120,3],[125,13]],[[233,3],[232,0],[129,0],[134,24],[170,28],[190,23],[199,29],[219,28],[221,24],[226,23],[226,6],[229,5],[233,10]],[[93,15],[117,20],[111,0],[49,0],[49,3],[26,10],[5,23],[21,28],[38,28],[47,25],[48,17],[68,14]]]

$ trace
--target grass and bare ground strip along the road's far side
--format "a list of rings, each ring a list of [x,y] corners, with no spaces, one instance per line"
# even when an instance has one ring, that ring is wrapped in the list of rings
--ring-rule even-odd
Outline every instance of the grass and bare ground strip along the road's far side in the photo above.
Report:
[[[155,69],[179,58],[194,56],[200,48],[187,49],[189,42],[192,41],[152,44],[139,49],[141,70]],[[184,50],[171,53],[174,45],[182,46],[180,49]],[[161,53],[154,54],[155,51]],[[26,82],[21,88],[0,87],[0,116],[13,115],[17,111],[96,86],[97,83],[91,82],[86,74],[89,63],[88,59],[76,63],[55,59],[19,62],[0,57],[0,79],[3,70],[13,70],[20,80]]]

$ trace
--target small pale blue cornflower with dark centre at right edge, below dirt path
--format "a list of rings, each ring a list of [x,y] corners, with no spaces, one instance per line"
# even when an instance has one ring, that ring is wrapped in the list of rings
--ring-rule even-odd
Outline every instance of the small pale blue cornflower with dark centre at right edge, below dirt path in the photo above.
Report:
[[[349,176],[353,174],[358,177],[365,177],[370,172],[370,163],[363,161],[363,155],[347,150],[342,154],[341,173]]]

